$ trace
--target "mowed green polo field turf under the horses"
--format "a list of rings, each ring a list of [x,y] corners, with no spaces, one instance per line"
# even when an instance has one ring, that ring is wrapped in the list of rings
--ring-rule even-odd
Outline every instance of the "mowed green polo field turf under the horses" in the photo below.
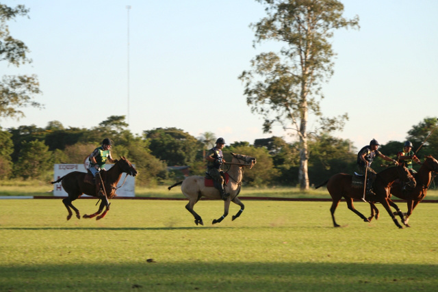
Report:
[[[0,200],[0,292],[437,291],[438,204],[400,230],[380,204],[365,223],[341,202],[333,228],[330,202],[243,202],[214,226],[223,203],[198,202],[196,226],[187,201],[112,200],[102,220],[66,221],[60,199]]]

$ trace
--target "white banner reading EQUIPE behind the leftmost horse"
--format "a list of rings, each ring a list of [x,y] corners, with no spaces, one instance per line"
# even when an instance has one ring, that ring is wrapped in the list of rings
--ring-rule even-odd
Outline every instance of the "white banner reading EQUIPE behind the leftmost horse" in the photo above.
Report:
[[[84,164],[55,164],[55,174],[53,175],[53,181],[57,181],[58,179],[62,178],[62,176],[70,173],[70,172],[87,172],[86,170],[86,163]],[[114,164],[106,164],[105,170],[109,170],[112,168]],[[120,187],[123,184],[123,181],[125,181],[125,176],[127,174],[122,174],[122,178],[120,178],[120,181],[118,182],[117,187]],[[133,176],[128,175],[126,178],[125,185],[123,187],[120,187],[120,189],[117,189],[116,194],[120,197],[135,197],[136,194],[134,192],[136,181],[133,178]],[[53,184],[53,196],[67,196],[66,191],[64,191],[64,188],[62,187],[62,183],[55,183]],[[86,196],[86,195],[83,195]]]

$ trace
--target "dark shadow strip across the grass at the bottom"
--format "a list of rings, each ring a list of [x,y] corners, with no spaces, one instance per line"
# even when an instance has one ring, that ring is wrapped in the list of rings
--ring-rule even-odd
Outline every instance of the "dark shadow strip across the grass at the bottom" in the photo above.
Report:
[[[436,291],[438,265],[355,263],[0,265],[0,291]]]

